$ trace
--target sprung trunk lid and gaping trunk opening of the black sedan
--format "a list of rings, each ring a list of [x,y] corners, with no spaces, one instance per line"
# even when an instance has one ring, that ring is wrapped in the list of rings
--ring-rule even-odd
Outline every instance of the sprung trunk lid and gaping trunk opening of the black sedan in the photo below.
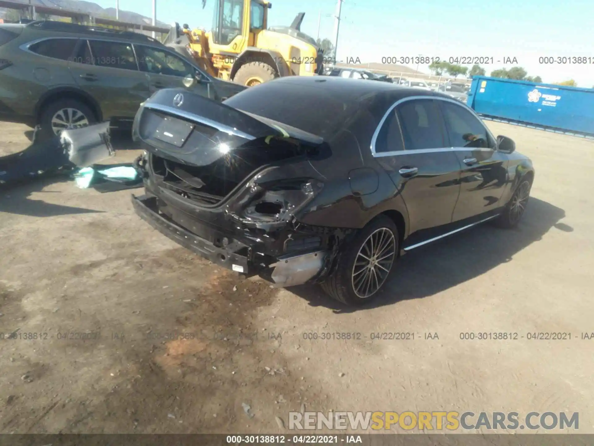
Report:
[[[183,89],[160,90],[143,103],[132,128],[150,152],[157,186],[216,206],[254,171],[306,158],[323,139]]]

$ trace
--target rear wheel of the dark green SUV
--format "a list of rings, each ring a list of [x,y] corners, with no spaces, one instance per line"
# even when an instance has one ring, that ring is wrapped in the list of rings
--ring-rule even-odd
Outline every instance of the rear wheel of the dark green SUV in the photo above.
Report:
[[[62,130],[96,123],[95,114],[80,100],[58,99],[46,105],[40,115],[40,136],[51,138]]]

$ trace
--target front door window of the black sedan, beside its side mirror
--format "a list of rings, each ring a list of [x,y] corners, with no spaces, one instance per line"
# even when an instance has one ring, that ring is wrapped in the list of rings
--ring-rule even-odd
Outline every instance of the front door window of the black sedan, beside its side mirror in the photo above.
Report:
[[[452,147],[495,148],[485,126],[462,106],[441,101],[445,128]]]

